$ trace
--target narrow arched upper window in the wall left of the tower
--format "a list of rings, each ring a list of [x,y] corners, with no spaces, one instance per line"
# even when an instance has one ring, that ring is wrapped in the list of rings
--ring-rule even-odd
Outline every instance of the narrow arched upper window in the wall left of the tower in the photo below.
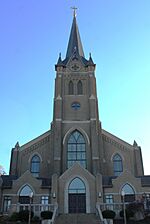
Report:
[[[31,173],[33,176],[38,177],[40,173],[40,157],[35,155],[31,159]]]

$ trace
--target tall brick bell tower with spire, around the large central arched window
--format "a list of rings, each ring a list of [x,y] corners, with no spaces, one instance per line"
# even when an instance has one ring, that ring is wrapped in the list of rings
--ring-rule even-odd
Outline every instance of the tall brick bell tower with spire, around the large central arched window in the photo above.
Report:
[[[67,53],[55,65],[54,116],[52,123],[54,169],[67,169],[67,139],[77,130],[86,141],[86,168],[93,174],[102,169],[103,147],[96,93],[95,67],[91,54],[84,56],[74,10]]]

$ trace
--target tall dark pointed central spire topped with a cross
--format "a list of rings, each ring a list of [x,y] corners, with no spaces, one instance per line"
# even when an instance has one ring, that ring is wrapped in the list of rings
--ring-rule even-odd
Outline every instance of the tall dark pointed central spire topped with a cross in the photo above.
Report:
[[[78,25],[76,21],[76,8],[73,7],[72,9],[74,10],[73,22],[72,22],[72,28],[71,28],[71,33],[69,37],[66,58],[71,57],[75,50],[76,50],[76,53],[84,57],[82,42],[80,39],[80,34],[79,34]]]

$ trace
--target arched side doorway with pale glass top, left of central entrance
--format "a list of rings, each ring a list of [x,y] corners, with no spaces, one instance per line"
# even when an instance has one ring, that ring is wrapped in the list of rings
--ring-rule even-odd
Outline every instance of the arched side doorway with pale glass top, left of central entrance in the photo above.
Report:
[[[31,194],[33,194],[32,189],[28,185],[25,185],[19,193],[19,202],[21,204],[29,204]]]

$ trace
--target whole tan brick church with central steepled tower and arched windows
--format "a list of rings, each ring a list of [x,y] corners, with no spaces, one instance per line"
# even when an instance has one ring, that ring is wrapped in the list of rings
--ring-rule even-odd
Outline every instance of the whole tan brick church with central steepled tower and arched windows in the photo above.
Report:
[[[149,200],[140,146],[102,129],[95,67],[85,57],[74,12],[66,56],[55,65],[50,130],[12,149],[10,173],[0,177],[2,214],[27,209],[31,197],[38,216],[55,208],[96,213],[109,205],[119,212],[122,192],[126,202]]]

